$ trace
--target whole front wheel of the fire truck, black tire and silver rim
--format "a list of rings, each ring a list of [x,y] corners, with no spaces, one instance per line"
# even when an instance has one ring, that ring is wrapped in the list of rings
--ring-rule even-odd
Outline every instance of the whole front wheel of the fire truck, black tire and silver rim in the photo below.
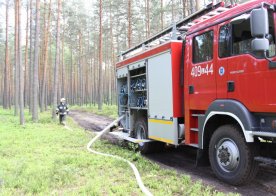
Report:
[[[216,176],[232,185],[250,182],[257,174],[258,163],[254,143],[246,143],[243,134],[235,125],[223,125],[212,135],[209,144],[209,159]]]

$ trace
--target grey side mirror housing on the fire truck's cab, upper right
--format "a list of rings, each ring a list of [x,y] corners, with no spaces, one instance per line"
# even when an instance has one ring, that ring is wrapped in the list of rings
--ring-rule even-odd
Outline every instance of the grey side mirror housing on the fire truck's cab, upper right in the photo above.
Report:
[[[268,34],[268,13],[267,9],[254,9],[250,13],[251,35],[255,39],[252,40],[251,46],[253,51],[269,50],[269,41],[266,38]]]

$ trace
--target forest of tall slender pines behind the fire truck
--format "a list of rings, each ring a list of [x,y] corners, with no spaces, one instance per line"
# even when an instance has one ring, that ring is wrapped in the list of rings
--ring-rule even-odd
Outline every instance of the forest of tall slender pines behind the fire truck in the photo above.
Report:
[[[116,104],[120,53],[209,3],[0,0],[0,105],[24,124],[26,112],[34,122],[45,110],[55,118],[61,97],[99,109]]]

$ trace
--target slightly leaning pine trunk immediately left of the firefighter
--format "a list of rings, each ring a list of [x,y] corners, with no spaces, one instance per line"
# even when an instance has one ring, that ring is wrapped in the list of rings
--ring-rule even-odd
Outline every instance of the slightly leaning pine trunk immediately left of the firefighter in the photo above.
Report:
[[[58,94],[58,72],[59,72],[59,50],[60,50],[60,14],[61,14],[61,0],[58,0],[58,17],[57,17],[57,36],[56,36],[56,59],[55,59],[55,73],[54,73],[54,95],[52,100],[52,118],[56,119],[56,106]]]

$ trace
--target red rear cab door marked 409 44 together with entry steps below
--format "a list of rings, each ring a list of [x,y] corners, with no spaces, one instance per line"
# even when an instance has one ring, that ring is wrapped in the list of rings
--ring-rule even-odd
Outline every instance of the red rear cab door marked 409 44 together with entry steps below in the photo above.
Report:
[[[187,37],[185,51],[185,144],[199,146],[197,115],[204,114],[217,97],[216,26]]]

